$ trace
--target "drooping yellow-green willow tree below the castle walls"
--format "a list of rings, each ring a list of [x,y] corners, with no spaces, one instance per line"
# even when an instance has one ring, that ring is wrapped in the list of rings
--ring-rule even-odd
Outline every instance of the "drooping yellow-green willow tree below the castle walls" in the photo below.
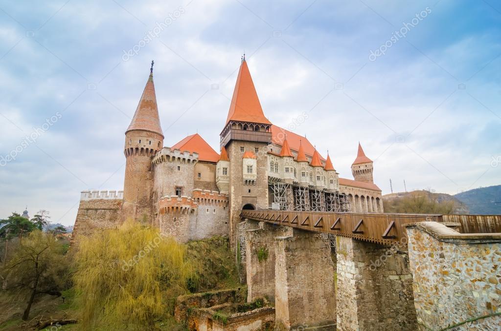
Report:
[[[74,283],[82,328],[154,329],[196,277],[185,250],[158,229],[134,222],[81,238]]]

